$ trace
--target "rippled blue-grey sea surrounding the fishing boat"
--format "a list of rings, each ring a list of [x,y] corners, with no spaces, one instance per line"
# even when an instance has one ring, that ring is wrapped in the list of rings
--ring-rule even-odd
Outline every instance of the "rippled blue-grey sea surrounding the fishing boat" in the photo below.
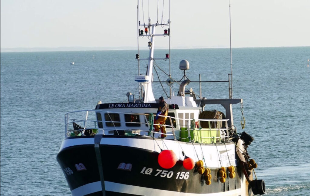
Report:
[[[141,58],[148,51],[142,51]],[[167,50],[155,51],[163,58]],[[180,80],[187,59],[192,81],[228,80],[229,49],[171,50],[171,74]],[[136,51],[1,53],[1,195],[70,195],[56,161],[64,114],[126,101],[138,74]],[[233,49],[233,98],[243,98],[249,153],[268,196],[310,195],[310,47]],[[74,65],[69,65],[74,61]],[[145,73],[147,62],[140,64]],[[168,61],[157,64],[169,72]],[[168,76],[156,69],[161,81]],[[154,80],[158,81],[156,72]],[[168,86],[163,84],[166,92]],[[199,85],[191,83],[199,95]],[[155,97],[165,96],[161,85]],[[178,85],[173,87],[175,94]],[[206,98],[227,98],[227,83],[202,84]],[[138,95],[136,94],[136,97]],[[218,109],[221,107],[208,107]],[[241,130],[240,105],[233,106]]]

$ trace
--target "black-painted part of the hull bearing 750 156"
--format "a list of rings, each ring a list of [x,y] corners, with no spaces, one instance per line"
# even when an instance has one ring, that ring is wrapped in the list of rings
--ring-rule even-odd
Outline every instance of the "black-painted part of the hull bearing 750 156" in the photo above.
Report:
[[[102,164],[102,168],[98,167],[98,154],[96,155],[94,144],[75,145],[64,148],[58,153],[57,161],[64,171],[73,195],[102,195],[102,188],[106,190],[106,195],[154,195],[154,193],[148,192],[152,192],[152,190],[156,193],[172,191],[183,193],[182,195],[184,193],[190,195],[234,191],[236,194],[227,195],[240,195],[238,193],[241,189],[241,173],[238,169],[235,171],[235,178],[227,177],[226,182],[221,183],[217,177],[218,168],[211,168],[211,185],[206,185],[203,176],[199,175],[195,169],[186,170],[182,161],[178,161],[171,169],[163,169],[157,162],[159,154],[157,152],[142,148],[102,144],[99,149],[101,156],[99,164]],[[78,171],[75,164],[79,163],[82,163],[86,170]],[[121,163],[132,164],[131,170],[118,169]],[[66,169],[67,171],[65,171]],[[100,170],[103,172],[104,184],[101,183]],[[184,176],[187,179],[184,179]],[[83,185],[85,188],[81,188]],[[90,185],[94,185],[96,188],[93,189],[93,186]],[[128,192],[124,192],[123,188],[126,188]],[[93,190],[78,192],[82,189]],[[136,191],[137,189],[139,191]],[[144,192],[143,189],[148,191]]]

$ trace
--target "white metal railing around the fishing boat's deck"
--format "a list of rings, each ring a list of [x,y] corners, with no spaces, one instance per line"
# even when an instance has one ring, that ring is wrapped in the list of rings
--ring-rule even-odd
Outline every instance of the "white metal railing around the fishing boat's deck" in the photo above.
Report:
[[[105,118],[98,121],[97,113],[108,114],[109,121],[105,120]],[[116,113],[120,116],[124,116],[125,114],[139,115],[142,119],[140,119],[140,122],[122,120],[113,121],[109,114]],[[155,115],[153,116],[155,117]],[[158,133],[163,134],[154,131],[153,129],[153,125],[159,125],[161,128],[162,126],[166,126],[165,135],[167,135],[168,139],[199,143],[219,143],[229,141],[229,128],[227,126],[228,119],[184,119],[167,116],[170,125],[154,124],[152,119],[154,118],[152,118],[150,114],[145,113],[110,112],[103,110],[80,110],[69,112],[65,115],[64,119],[65,137],[95,135],[97,133],[105,135],[142,135],[153,137]],[[185,126],[183,125],[181,127],[179,124],[180,121],[185,121]],[[175,126],[173,122],[175,122]],[[106,123],[112,123],[112,126],[106,126]],[[126,126],[126,123],[137,124],[137,126],[128,127]],[[202,125],[205,128],[203,128]],[[150,126],[152,126],[151,129]]]

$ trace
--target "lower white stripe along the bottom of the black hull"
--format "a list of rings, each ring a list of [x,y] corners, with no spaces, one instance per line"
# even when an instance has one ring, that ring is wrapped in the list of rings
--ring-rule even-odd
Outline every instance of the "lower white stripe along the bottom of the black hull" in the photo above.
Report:
[[[209,194],[190,194],[190,193],[179,193],[175,191],[152,189],[141,186],[133,185],[124,185],[115,182],[104,181],[104,185],[107,191],[117,192],[117,193],[126,193],[134,195],[148,195],[148,196],[238,196],[241,195],[241,189],[235,189],[219,193],[209,193]],[[89,183],[83,186],[80,186],[71,191],[73,196],[80,196],[95,193],[101,191],[100,181]]]

